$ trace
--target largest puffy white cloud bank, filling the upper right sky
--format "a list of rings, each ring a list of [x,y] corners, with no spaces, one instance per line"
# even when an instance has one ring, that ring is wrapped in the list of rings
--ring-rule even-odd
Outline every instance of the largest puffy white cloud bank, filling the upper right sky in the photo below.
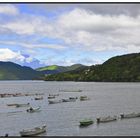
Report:
[[[140,45],[135,45],[140,44],[140,15],[111,16],[75,9],[61,15],[56,24],[59,36],[71,46],[80,44],[92,51],[140,51]],[[135,49],[128,46],[135,46]]]

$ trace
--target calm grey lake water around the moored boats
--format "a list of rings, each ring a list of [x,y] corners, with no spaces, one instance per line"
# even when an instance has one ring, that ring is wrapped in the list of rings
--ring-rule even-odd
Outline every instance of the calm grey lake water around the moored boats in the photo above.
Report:
[[[82,90],[60,92],[59,90]],[[85,118],[121,113],[140,112],[140,83],[1,81],[0,93],[44,93],[43,100],[34,96],[0,98],[0,136],[20,136],[22,129],[47,124],[47,132],[40,136],[140,136],[140,118],[117,120],[86,128],[79,127]],[[56,99],[87,95],[90,100],[48,104],[49,94]],[[41,107],[41,112],[27,113],[27,107],[8,107],[10,103],[28,103]],[[14,111],[21,111],[12,113]]]

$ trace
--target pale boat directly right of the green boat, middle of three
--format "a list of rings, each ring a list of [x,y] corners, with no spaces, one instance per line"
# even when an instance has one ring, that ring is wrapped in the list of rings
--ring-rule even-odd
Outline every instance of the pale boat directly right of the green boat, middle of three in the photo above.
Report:
[[[102,117],[102,118],[97,118],[97,123],[106,123],[106,122],[111,122],[111,121],[116,121],[117,116],[107,116],[107,117]]]

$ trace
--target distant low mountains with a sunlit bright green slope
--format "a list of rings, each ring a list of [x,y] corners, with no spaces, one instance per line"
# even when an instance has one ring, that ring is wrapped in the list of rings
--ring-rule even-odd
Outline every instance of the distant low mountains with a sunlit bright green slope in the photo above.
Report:
[[[57,73],[62,73],[62,72],[73,71],[73,70],[76,70],[78,68],[83,68],[83,67],[86,67],[86,66],[82,64],[74,64],[71,66],[51,65],[51,66],[41,67],[36,70],[41,71],[45,74],[57,74]]]

